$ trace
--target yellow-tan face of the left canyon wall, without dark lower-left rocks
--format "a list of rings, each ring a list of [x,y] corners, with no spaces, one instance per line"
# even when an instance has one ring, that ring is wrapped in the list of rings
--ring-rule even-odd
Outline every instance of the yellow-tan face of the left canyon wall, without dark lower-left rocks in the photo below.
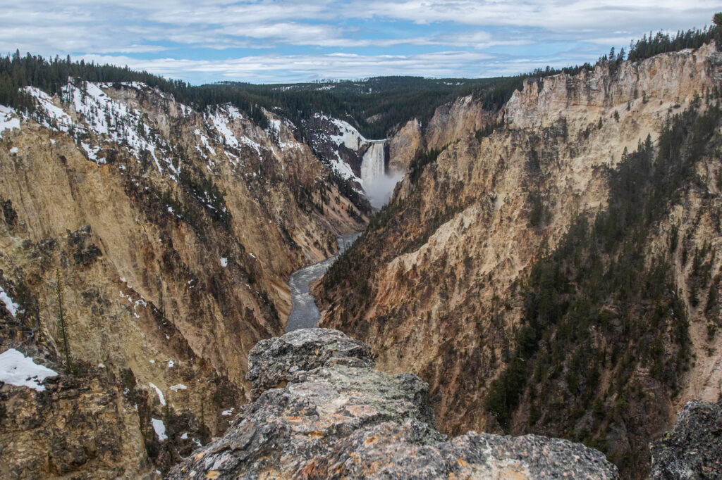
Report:
[[[52,99],[70,134],[45,120],[2,133],[2,281],[37,301],[32,342],[62,350],[62,298],[75,362],[129,370],[156,418],[163,401],[195,417],[202,408],[218,435],[222,410],[245,400],[248,350],[284,331],[290,272],[334,254],[336,235],[365,217],[349,216],[326,166],[270,113],[273,134],[232,107],[195,112],[147,86],[87,92],[84,102],[110,106],[81,115]],[[94,126],[106,115],[111,133]],[[35,322],[23,318],[12,319],[18,341]],[[140,437],[137,414],[116,420]],[[142,441],[127,443],[144,455]]]

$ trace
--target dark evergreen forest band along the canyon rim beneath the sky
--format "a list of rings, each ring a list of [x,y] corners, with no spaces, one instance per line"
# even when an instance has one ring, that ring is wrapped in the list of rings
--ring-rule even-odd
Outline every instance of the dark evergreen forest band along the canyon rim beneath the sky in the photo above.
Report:
[[[677,32],[674,37],[658,32],[646,35],[631,43],[627,52],[622,48],[609,55],[601,55],[599,61],[617,63],[623,60],[638,61],[658,53],[699,48],[716,40],[720,43],[716,27],[702,30]],[[35,102],[30,95],[20,91],[23,86],[37,86],[48,94],[60,92],[68,77],[105,83],[139,81],[172,94],[178,102],[204,110],[211,105],[230,103],[246,112],[258,125],[268,127],[268,119],[260,107],[279,111],[303,128],[303,120],[316,112],[323,112],[354,125],[366,138],[384,138],[406,121],[417,118],[424,123],[434,110],[458,97],[474,95],[482,99],[489,110],[497,110],[521,89],[528,77],[544,77],[562,72],[578,74],[593,66],[565,68],[536,68],[516,76],[489,79],[426,79],[419,76],[379,76],[362,80],[316,81],[300,84],[248,84],[243,82],[219,82],[194,86],[181,80],[165,79],[147,71],[134,71],[125,67],[100,65],[93,62],[72,61],[66,58],[45,59],[27,53],[22,57],[19,50],[12,55],[0,57],[0,104],[19,110],[32,110]]]

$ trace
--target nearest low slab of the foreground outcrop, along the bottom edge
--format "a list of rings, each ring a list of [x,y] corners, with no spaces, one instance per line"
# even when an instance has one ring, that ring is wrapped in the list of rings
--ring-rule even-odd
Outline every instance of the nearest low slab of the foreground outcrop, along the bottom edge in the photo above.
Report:
[[[469,432],[430,443],[412,425],[383,423],[339,440],[299,472],[302,479],[612,479],[599,451],[536,435]]]

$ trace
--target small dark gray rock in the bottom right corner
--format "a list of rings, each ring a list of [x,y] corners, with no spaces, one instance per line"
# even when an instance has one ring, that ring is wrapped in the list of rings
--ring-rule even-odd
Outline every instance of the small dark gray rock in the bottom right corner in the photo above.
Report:
[[[650,448],[651,479],[722,479],[722,398],[688,401],[674,429]]]

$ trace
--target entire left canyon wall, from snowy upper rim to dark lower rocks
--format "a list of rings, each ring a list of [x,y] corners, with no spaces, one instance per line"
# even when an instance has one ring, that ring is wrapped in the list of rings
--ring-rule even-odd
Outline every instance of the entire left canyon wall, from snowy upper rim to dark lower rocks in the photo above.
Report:
[[[365,216],[269,112],[264,130],[137,83],[27,92],[32,115],[1,110],[0,286],[15,307],[0,304],[0,345],[61,378],[4,386],[0,422],[70,453],[6,439],[0,458],[13,478],[163,471],[248,398],[246,358],[283,331],[290,272]],[[110,429],[117,445],[98,440]]]

